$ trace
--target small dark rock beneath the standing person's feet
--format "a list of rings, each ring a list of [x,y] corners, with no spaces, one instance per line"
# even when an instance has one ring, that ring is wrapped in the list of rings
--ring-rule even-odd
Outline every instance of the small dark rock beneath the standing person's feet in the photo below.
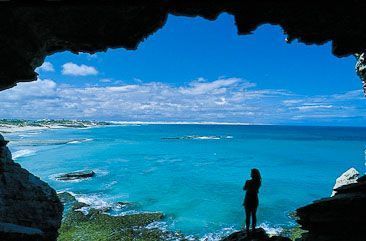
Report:
[[[263,228],[257,228],[254,232],[238,231],[230,234],[221,241],[291,241],[291,239],[280,236],[269,237]]]

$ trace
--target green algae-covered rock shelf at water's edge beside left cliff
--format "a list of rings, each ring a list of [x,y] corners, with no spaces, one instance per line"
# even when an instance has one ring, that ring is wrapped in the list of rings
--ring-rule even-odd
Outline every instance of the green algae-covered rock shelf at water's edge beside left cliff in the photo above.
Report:
[[[74,199],[72,208],[65,214],[58,241],[186,240],[179,233],[149,226],[162,221],[164,218],[162,213],[110,216],[94,208],[90,208],[87,214],[79,211],[86,206],[88,205]]]

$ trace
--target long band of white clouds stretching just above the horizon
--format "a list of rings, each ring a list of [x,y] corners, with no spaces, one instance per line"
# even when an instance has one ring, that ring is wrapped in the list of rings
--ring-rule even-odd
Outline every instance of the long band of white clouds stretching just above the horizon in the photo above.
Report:
[[[257,89],[240,78],[199,79],[178,87],[161,82],[76,87],[39,79],[0,92],[0,115],[266,124],[366,121],[365,99],[360,96],[361,91],[296,95],[281,89]]]

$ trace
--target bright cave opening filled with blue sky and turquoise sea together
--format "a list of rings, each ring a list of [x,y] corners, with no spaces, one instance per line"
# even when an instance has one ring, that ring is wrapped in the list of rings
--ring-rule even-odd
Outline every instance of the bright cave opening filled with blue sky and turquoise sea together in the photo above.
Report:
[[[50,130],[3,135],[13,159],[57,191],[110,214],[163,212],[153,228],[213,240],[240,229],[255,166],[260,225],[290,229],[292,211],[329,196],[342,172],[364,172],[366,112],[353,56],[285,37],[272,25],[238,37],[226,14],[170,16],[135,51],[54,54],[0,101],[6,119],[57,128],[44,120]],[[95,176],[56,178],[78,170]]]

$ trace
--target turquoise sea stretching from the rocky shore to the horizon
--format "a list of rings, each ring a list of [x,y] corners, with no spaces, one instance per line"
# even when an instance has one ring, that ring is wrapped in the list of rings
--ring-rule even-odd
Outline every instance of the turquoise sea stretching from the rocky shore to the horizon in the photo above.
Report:
[[[348,168],[365,172],[366,128],[126,125],[5,137],[16,160],[56,190],[95,206],[129,201],[133,211],[162,211],[157,225],[200,237],[242,226],[242,185],[253,167],[263,176],[258,218],[267,228],[293,225],[289,214],[329,196]],[[54,179],[82,169],[97,175]]]

